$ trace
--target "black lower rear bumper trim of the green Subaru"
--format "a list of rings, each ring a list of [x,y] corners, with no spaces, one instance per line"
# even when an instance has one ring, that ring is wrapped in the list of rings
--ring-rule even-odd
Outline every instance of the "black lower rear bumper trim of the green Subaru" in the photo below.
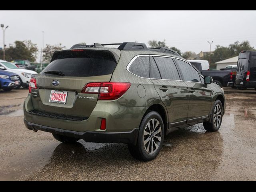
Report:
[[[136,145],[139,128],[134,128],[130,132],[96,132],[86,131],[77,132],[71,130],[63,130],[43,125],[34,124],[24,119],[24,124],[29,130],[41,130],[54,134],[75,137],[85,140],[86,142],[96,143],[131,143]]]

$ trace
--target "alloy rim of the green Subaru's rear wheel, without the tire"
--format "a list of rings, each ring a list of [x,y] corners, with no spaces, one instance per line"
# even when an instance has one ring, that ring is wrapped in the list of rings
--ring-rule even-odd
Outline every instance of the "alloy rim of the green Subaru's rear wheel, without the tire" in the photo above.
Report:
[[[162,128],[157,119],[151,119],[144,128],[143,145],[147,153],[153,154],[158,149],[162,138]]]

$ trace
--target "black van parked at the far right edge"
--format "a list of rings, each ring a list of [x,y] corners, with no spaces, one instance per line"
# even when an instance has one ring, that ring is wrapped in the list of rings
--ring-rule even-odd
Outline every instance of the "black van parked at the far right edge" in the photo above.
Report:
[[[236,69],[236,87],[256,90],[256,51],[241,51]]]

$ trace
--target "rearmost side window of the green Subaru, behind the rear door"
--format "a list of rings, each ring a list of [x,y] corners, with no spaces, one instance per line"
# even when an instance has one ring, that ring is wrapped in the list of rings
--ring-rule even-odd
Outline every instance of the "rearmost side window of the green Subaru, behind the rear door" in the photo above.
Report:
[[[136,58],[129,71],[137,76],[149,78],[149,56]]]

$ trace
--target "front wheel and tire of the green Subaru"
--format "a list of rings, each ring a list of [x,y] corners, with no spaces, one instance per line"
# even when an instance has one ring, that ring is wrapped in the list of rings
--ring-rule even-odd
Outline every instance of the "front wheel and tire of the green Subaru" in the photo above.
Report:
[[[220,112],[218,113],[218,111]],[[216,132],[219,130],[223,117],[223,106],[220,100],[214,102],[212,108],[212,116],[209,122],[203,122],[204,129],[210,132]]]

